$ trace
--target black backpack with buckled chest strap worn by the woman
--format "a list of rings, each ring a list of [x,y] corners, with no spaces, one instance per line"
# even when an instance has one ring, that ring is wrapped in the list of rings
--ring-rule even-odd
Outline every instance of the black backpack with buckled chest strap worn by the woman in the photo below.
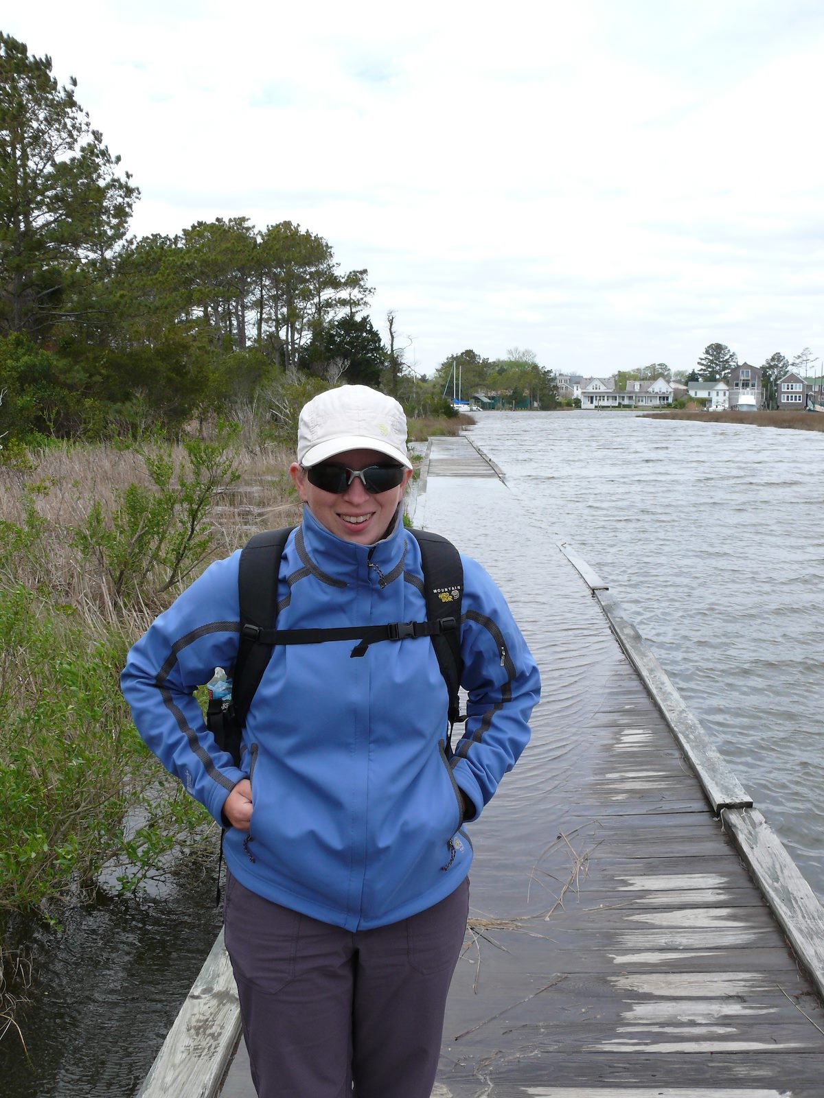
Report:
[[[207,727],[219,748],[240,765],[241,735],[246,714],[275,645],[316,645],[325,640],[356,640],[350,657],[364,656],[369,645],[408,637],[431,637],[441,674],[449,695],[449,731],[460,717],[458,687],[460,658],[460,601],[464,567],[452,541],[428,530],[410,530],[421,547],[425,621],[392,621],[389,625],[349,626],[338,629],[276,629],[280,557],[293,526],[265,530],[249,538],[241,551],[237,586],[241,602],[241,639],[232,671],[231,699],[212,698]],[[447,736],[447,750],[449,741]]]

